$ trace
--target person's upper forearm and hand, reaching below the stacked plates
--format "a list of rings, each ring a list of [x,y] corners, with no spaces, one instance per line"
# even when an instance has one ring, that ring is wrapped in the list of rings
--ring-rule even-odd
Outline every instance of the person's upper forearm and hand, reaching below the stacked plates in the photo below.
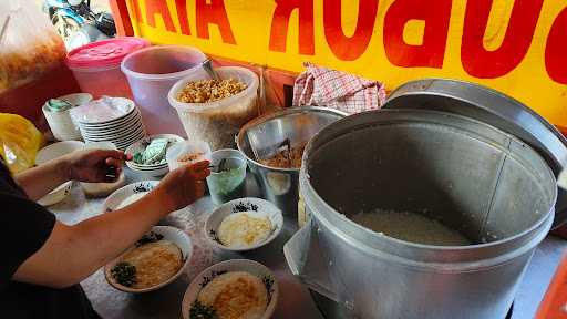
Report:
[[[118,177],[124,160],[126,155],[120,151],[79,151],[27,169],[16,175],[14,179],[28,197],[38,200],[71,179],[113,182],[113,178],[106,176],[109,167],[115,167],[116,177]]]

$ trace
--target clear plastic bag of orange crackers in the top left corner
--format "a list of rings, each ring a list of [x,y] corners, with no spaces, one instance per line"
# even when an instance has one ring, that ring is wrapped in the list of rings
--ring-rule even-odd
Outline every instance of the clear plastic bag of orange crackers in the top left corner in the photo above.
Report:
[[[63,40],[35,1],[0,1],[0,93],[63,63]]]

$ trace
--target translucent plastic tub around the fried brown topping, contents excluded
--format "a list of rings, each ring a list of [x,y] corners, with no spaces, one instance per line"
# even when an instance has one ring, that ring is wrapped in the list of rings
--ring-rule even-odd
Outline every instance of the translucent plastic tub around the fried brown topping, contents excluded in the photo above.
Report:
[[[169,90],[167,99],[177,110],[187,137],[207,142],[213,151],[234,148],[235,136],[248,121],[258,116],[258,76],[252,71],[239,66],[215,69],[221,79],[236,79],[247,88],[229,97],[209,103],[183,103],[178,93],[193,81],[209,79],[208,75],[192,74]]]

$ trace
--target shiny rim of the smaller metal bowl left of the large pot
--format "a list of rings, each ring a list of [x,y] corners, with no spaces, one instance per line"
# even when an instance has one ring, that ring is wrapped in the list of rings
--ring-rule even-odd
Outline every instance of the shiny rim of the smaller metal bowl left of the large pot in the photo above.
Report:
[[[254,126],[259,125],[261,123],[266,123],[266,122],[271,121],[274,119],[284,117],[284,116],[288,116],[288,115],[292,115],[292,114],[300,114],[300,113],[329,113],[329,114],[333,114],[333,115],[339,115],[341,119],[343,119],[343,117],[349,115],[346,112],[342,112],[342,111],[339,111],[339,110],[334,110],[334,109],[323,107],[323,106],[301,106],[301,107],[284,109],[284,110],[280,110],[280,111],[276,111],[274,113],[269,113],[269,114],[256,117],[256,119],[251,120],[250,122],[246,123],[240,128],[240,131],[238,132],[238,135],[235,138],[236,140],[236,147],[238,148],[238,151],[240,151],[240,153],[244,154],[244,156],[246,157],[247,161],[254,163],[255,165],[257,165],[259,167],[262,167],[262,168],[266,168],[266,169],[269,169],[269,171],[274,171],[274,172],[281,172],[281,173],[299,173],[300,168],[270,167],[270,166],[267,166],[267,165],[264,165],[264,164],[257,162],[255,158],[251,158],[250,156],[248,156],[248,154],[246,154],[246,152],[241,147],[241,144],[243,144],[241,142],[243,142],[244,136],[246,136],[246,132],[250,127],[254,127]],[[338,121],[340,121],[341,119],[339,119]]]

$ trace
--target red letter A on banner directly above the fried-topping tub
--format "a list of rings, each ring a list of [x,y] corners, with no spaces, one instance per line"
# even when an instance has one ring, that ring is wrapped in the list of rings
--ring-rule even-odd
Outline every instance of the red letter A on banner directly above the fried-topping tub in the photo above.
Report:
[[[209,3],[207,3],[209,2]],[[197,37],[209,39],[208,24],[217,24],[223,42],[236,44],[233,29],[228,22],[224,0],[196,0]]]

